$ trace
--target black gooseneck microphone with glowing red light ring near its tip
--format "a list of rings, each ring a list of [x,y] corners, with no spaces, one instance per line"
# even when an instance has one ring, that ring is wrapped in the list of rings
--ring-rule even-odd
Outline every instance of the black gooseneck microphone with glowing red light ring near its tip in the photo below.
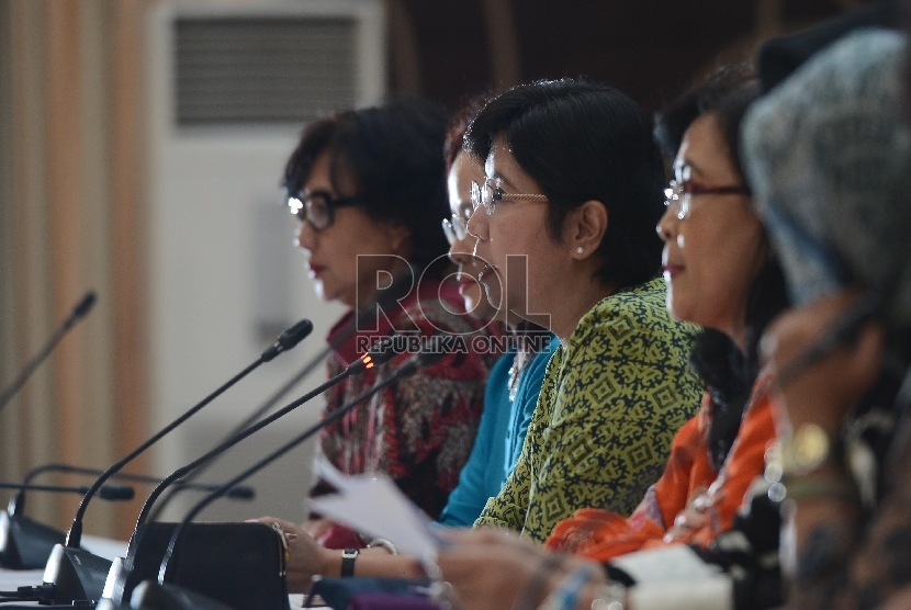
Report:
[[[189,464],[176,470],[173,473],[168,475],[161,484],[156,487],[151,494],[149,494],[148,498],[146,498],[145,505],[143,506],[142,511],[139,512],[139,517],[136,520],[136,528],[133,530],[133,535],[130,538],[130,546],[127,550],[127,555],[123,561],[114,562],[109,575],[108,581],[104,586],[103,598],[104,599],[112,599],[116,603],[123,603],[124,599],[126,599],[133,588],[142,580],[145,579],[146,576],[150,576],[147,574],[136,574],[134,576],[134,566],[136,564],[137,558],[144,552],[140,552],[139,549],[143,546],[143,536],[142,536],[142,527],[148,519],[149,511],[151,506],[155,504],[158,496],[167,488],[168,485],[173,483],[175,481],[185,476],[190,473],[193,468],[209,462],[210,460],[216,458],[221,453],[227,451],[238,442],[243,441],[244,439],[250,437],[251,434],[258,432],[266,426],[272,423],[273,421],[284,417],[295,408],[300,407],[301,405],[307,403],[308,400],[315,398],[323,394],[329,387],[340,383],[341,381],[348,379],[351,375],[362,373],[368,369],[373,369],[374,366],[379,366],[392,360],[396,355],[395,351],[395,336],[386,337],[385,339],[379,341],[370,351],[364,353],[361,358],[352,362],[345,371],[336,375],[335,377],[330,379],[329,381],[323,383],[315,389],[308,392],[307,394],[303,395],[302,397],[297,398],[296,400],[292,402],[291,404],[286,405],[282,409],[275,411],[274,414],[270,415],[269,417],[254,423],[252,426],[248,427],[247,429],[243,430],[235,437],[227,439],[216,445],[214,449],[201,455],[196,460],[190,462]],[[224,487],[224,486],[222,486]],[[218,489],[221,490],[221,488]],[[160,556],[164,552],[164,549],[159,549],[158,551],[149,551],[150,553],[155,553],[155,555]]]

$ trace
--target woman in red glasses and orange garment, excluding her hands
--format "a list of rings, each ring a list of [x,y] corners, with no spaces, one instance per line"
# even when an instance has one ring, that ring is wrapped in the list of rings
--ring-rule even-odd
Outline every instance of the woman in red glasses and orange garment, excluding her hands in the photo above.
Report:
[[[708,386],[700,413],[679,429],[664,474],[630,517],[580,510],[556,524],[549,549],[605,562],[668,543],[705,546],[731,529],[763,472],[775,430],[772,380],[757,374],[756,343],[786,298],[736,152],[736,126],[758,93],[750,76],[745,68],[721,70],[665,111],[656,129],[665,151],[676,154],[657,226],[668,307],[707,328],[693,357]],[[728,248],[732,240],[739,245]]]

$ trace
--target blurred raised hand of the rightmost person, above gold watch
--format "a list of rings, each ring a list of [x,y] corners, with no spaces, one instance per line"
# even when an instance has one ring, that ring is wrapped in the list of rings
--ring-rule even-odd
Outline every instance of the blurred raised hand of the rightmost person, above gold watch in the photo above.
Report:
[[[790,365],[856,298],[856,291],[845,291],[784,314],[763,338],[763,355],[778,374],[790,376]],[[876,380],[881,350],[881,330],[868,325],[853,343],[833,350],[792,379],[779,379],[779,434],[805,423],[816,423],[836,434],[847,409]]]

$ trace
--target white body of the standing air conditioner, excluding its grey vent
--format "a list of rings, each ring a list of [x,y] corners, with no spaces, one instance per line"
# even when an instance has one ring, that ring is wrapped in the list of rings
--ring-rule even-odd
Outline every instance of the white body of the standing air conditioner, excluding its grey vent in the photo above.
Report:
[[[345,4],[333,3],[336,8]],[[381,5],[353,4],[369,9],[373,20],[365,37],[374,48],[362,54],[370,66],[361,75],[370,75],[373,81],[361,89],[360,103],[376,103],[384,83],[384,50],[382,45],[376,47],[383,39]],[[292,245],[294,221],[279,205],[279,179],[302,126],[178,131],[170,116],[170,55],[167,27],[161,25],[169,10],[159,11],[149,22],[149,293],[156,429],[259,355],[267,346],[258,330],[265,318],[274,323],[283,317],[290,325],[307,317],[315,330],[295,350],[254,372],[167,438],[157,452],[159,473],[170,472],[215,444],[324,347],[329,327],[342,313],[340,306],[315,297],[303,256]],[[325,368],[319,366],[280,405],[324,379]],[[225,476],[292,438],[317,419],[322,404],[317,398],[263,431],[268,433],[245,442],[205,478]],[[259,477],[256,504],[221,502],[206,517],[268,513],[302,519],[311,453],[312,447],[305,448]],[[172,509],[166,517],[178,515]]]

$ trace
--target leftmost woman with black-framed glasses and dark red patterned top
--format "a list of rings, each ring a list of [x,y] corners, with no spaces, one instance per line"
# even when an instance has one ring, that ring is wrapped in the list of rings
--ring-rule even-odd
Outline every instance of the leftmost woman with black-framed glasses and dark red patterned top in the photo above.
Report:
[[[463,313],[454,282],[442,281],[450,268],[440,228],[448,210],[446,125],[436,106],[415,100],[342,112],[311,124],[288,162],[284,185],[310,276],[323,298],[350,307],[328,336],[329,376],[393,331],[466,339],[487,332],[486,320]],[[371,310],[392,278],[410,292]],[[358,316],[363,310],[369,315]],[[319,453],[346,474],[390,475],[425,512],[439,516],[471,451],[490,370],[488,355],[473,351],[470,340],[462,346],[469,349],[397,381],[326,427]],[[410,355],[334,386],[324,415]],[[329,490],[318,481],[312,495]],[[327,547],[346,549],[348,565],[369,542],[318,516],[304,530]]]

